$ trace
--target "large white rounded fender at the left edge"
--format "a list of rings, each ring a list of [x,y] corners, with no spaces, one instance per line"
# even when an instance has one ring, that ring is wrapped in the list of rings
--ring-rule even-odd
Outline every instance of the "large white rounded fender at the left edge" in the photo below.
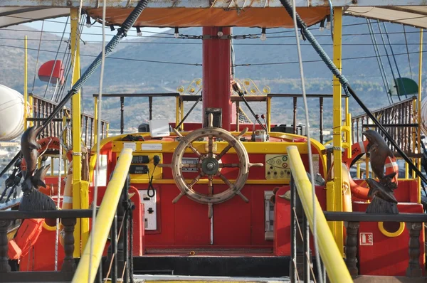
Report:
[[[23,133],[23,96],[0,85],[0,141],[10,141]]]

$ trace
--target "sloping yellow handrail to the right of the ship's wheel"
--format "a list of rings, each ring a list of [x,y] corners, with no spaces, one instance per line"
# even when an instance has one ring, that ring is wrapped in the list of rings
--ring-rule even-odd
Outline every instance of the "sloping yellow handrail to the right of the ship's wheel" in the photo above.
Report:
[[[288,156],[290,162],[290,170],[295,180],[298,195],[304,208],[310,224],[310,229],[313,231],[313,202],[312,202],[312,184],[310,183],[305,167],[302,164],[300,152],[297,146],[288,146]],[[327,225],[325,215],[320,207],[319,201],[315,198],[316,210],[316,230],[317,241],[319,243],[319,252],[327,270],[327,274],[332,283],[347,283],[353,282],[349,270],[342,259],[341,252],[335,244],[334,236],[332,236],[330,227]]]

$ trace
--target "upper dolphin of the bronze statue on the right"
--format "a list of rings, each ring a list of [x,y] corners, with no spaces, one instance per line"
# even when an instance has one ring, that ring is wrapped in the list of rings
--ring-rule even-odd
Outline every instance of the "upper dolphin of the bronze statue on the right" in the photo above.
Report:
[[[371,168],[375,175],[381,180],[384,178],[384,166],[387,156],[394,158],[393,152],[387,146],[384,138],[381,137],[379,132],[367,130],[362,134],[368,139],[367,151],[371,156]]]

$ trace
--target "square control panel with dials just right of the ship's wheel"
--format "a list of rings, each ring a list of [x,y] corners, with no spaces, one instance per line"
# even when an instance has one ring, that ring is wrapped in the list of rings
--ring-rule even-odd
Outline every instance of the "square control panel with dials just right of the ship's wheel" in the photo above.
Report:
[[[267,180],[290,180],[288,154],[265,154],[265,178]]]

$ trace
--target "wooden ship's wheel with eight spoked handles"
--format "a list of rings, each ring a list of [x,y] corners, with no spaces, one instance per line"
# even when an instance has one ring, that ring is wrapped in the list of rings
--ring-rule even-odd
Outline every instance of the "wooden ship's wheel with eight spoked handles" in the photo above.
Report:
[[[176,150],[174,151],[174,155],[172,156],[172,164],[159,164],[162,167],[170,167],[172,169],[172,175],[174,177],[174,181],[176,186],[178,186],[179,193],[176,198],[174,198],[173,203],[179,201],[182,196],[187,196],[193,201],[198,203],[204,203],[209,206],[209,218],[212,217],[212,205],[216,203],[223,203],[224,201],[228,201],[233,198],[233,196],[240,196],[243,201],[246,203],[249,202],[246,196],[243,196],[241,193],[241,189],[248,180],[249,168],[252,166],[262,167],[263,164],[251,164],[249,162],[248,152],[240,141],[243,134],[248,131],[248,128],[244,129],[238,136],[233,136],[230,132],[225,129],[212,127],[212,115],[209,115],[209,127],[205,127],[202,129],[196,129],[185,137],[181,135],[176,129],[174,129],[175,134],[179,137],[180,142],[178,146],[176,146]],[[200,139],[208,138],[208,152],[206,154],[201,154],[199,150],[197,150],[193,146],[193,142],[199,141]],[[220,154],[214,154],[214,138],[222,139],[225,142],[228,142],[228,145],[221,151]],[[197,164],[182,164],[182,157],[184,156],[185,150],[189,148],[191,151],[196,154],[199,158],[199,162]],[[238,156],[238,164],[223,164],[221,162],[221,158],[233,148],[236,151]],[[238,168],[238,177],[236,181],[231,182],[221,173],[222,168]],[[190,182],[186,183],[184,176],[182,175],[183,168],[197,168],[199,174]],[[199,193],[194,191],[194,185],[204,176],[208,178],[208,194]],[[222,193],[214,194],[214,185],[213,179],[215,177],[221,178],[223,183],[228,186],[226,191]]]

